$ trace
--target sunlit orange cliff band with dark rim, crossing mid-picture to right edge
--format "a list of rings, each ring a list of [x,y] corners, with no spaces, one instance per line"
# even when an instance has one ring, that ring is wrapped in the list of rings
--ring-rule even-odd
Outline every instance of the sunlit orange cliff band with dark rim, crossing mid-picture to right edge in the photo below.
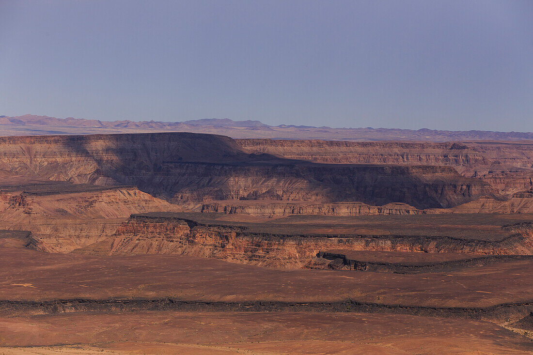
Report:
[[[314,233],[289,230],[284,225],[196,220],[187,214],[135,214],[114,236],[75,253],[104,255],[184,254],[215,257],[230,262],[278,268],[302,268],[317,253],[329,249],[479,255],[533,254],[530,223],[502,229],[497,239],[372,233]],[[452,223],[453,216],[449,217]],[[392,220],[391,220],[392,222]],[[412,224],[416,221],[407,221]],[[313,228],[310,226],[308,228]],[[424,227],[425,228],[425,227]],[[286,230],[280,233],[279,230]],[[486,228],[485,228],[486,230]],[[392,230],[393,231],[393,230]],[[384,233],[384,234],[381,234]],[[482,233],[481,233],[482,234]]]

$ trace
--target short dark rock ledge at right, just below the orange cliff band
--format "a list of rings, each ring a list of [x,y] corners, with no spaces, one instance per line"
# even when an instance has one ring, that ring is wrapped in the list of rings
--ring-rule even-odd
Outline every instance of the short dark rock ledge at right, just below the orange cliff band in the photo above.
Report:
[[[328,252],[318,252],[317,256],[326,260],[340,259],[342,260],[342,264],[348,266],[350,270],[392,273],[443,272],[457,270],[458,268],[483,267],[490,264],[504,262],[533,260],[533,255],[479,255],[472,257],[471,259],[459,259],[437,263],[409,264],[360,261],[350,259],[344,254]]]

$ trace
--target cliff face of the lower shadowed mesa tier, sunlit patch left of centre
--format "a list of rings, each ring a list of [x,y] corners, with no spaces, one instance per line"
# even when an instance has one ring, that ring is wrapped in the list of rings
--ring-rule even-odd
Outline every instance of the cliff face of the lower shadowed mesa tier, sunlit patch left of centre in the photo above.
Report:
[[[176,203],[212,198],[447,208],[481,197],[498,198],[488,184],[438,166],[184,163],[169,166],[157,185],[177,191],[172,199]]]

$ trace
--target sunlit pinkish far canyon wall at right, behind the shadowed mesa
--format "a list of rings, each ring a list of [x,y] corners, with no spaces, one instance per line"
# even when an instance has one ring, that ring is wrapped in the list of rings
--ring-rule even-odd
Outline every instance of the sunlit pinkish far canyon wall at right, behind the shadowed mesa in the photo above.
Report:
[[[339,142],[237,140],[247,152],[263,152],[317,163],[452,166],[507,195],[533,187],[533,143]]]

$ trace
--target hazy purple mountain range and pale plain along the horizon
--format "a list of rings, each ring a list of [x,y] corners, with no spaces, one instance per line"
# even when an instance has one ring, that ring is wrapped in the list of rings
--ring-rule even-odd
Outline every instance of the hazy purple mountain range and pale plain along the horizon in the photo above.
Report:
[[[321,139],[346,141],[516,141],[533,140],[531,132],[401,130],[399,128],[332,128],[327,126],[269,126],[257,120],[234,121],[205,118],[184,122],[55,118],[23,115],[0,116],[0,135],[109,134],[146,132],[194,132],[232,138]]]

